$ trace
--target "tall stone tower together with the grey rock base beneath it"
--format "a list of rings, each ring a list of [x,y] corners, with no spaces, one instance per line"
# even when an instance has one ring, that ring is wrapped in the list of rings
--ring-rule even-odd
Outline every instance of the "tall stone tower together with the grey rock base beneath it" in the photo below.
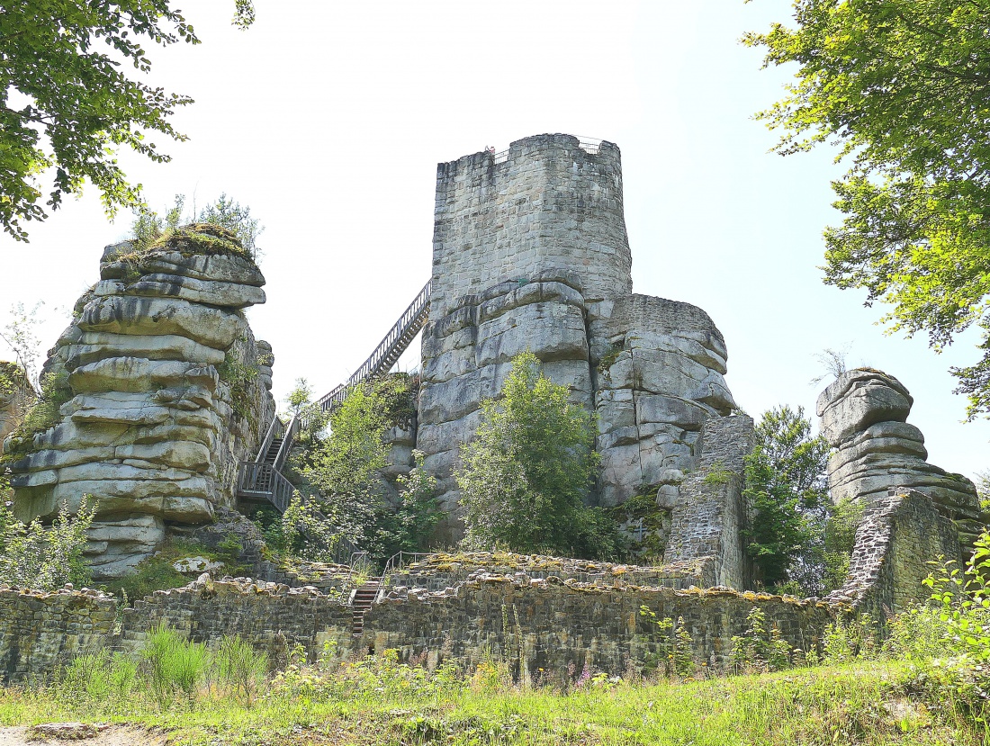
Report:
[[[619,147],[540,135],[441,163],[435,216],[416,441],[441,479],[446,538],[459,534],[458,448],[527,348],[599,416],[591,499],[615,506],[658,490],[684,518],[703,425],[735,407],[725,341],[701,309],[633,294]],[[681,544],[677,558],[690,555]]]

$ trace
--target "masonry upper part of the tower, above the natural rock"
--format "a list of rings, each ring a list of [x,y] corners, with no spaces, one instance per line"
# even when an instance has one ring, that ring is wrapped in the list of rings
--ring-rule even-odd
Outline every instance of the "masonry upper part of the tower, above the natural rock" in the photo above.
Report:
[[[506,279],[562,268],[587,302],[625,295],[631,265],[615,143],[537,135],[438,165],[432,319]]]

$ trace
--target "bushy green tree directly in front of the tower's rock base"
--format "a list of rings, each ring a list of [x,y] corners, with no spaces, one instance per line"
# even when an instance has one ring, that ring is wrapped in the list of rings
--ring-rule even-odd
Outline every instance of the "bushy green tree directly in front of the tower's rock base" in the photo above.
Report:
[[[619,551],[614,522],[584,505],[598,467],[594,420],[567,397],[527,351],[513,360],[501,398],[481,403],[455,474],[468,546],[572,557]]]

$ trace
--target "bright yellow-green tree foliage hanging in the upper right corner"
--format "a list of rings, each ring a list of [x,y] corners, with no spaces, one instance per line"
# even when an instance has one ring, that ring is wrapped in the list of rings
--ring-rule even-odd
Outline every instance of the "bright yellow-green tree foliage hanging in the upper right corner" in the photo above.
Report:
[[[890,330],[940,351],[982,327],[982,359],[952,368],[968,415],[990,413],[990,0],[796,0],[796,27],[744,42],[796,62],[759,117],[788,155],[835,140],[842,225],[826,282],[891,304]]]

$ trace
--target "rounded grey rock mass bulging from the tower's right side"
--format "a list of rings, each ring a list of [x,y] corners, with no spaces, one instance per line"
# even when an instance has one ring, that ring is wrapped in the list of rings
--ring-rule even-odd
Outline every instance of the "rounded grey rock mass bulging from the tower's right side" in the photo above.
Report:
[[[673,508],[697,465],[702,425],[736,407],[723,378],[725,339],[701,309],[644,295],[602,304],[590,331],[601,503],[660,485],[660,502]]]

